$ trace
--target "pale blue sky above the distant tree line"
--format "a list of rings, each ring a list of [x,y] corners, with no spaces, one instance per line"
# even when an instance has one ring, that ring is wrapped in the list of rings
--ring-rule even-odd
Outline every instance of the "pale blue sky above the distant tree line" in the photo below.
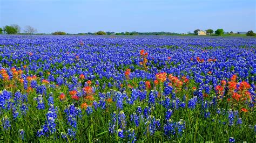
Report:
[[[64,31],[256,31],[254,0],[0,0],[0,27]]]

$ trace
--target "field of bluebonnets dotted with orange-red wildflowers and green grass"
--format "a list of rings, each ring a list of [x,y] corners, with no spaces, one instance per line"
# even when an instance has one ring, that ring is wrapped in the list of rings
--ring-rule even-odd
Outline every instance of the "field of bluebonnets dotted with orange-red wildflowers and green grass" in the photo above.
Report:
[[[254,142],[255,44],[0,35],[0,140]]]

